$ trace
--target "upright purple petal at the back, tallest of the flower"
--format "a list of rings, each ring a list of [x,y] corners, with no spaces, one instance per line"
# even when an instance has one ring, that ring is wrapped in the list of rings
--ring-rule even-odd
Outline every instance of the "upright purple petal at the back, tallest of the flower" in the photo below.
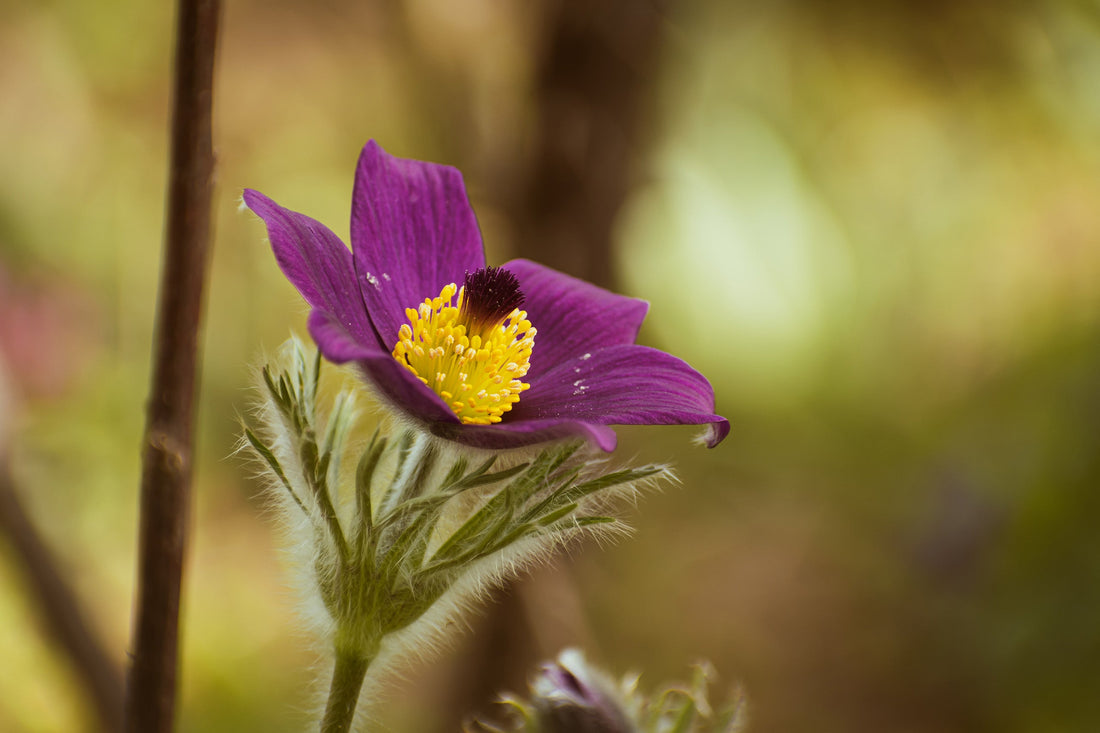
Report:
[[[359,157],[351,244],[366,309],[382,341],[397,342],[405,309],[485,266],[462,174],[394,157],[373,140]]]

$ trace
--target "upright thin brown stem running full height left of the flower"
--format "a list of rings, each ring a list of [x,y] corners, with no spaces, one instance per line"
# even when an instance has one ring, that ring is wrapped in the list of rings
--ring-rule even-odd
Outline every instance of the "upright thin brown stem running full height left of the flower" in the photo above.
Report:
[[[210,239],[211,108],[220,2],[179,0],[177,12],[165,259],[142,457],[128,733],[173,730],[199,316]]]

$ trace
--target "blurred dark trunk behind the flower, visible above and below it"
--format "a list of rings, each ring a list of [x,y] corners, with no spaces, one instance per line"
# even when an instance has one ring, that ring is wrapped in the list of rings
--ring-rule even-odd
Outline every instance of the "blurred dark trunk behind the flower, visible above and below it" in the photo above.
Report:
[[[543,3],[530,152],[499,192],[517,256],[614,288],[613,227],[645,160],[668,4]],[[521,688],[535,661],[562,646],[595,649],[579,609],[564,569],[539,569],[506,588],[476,623],[446,730],[501,690]]]

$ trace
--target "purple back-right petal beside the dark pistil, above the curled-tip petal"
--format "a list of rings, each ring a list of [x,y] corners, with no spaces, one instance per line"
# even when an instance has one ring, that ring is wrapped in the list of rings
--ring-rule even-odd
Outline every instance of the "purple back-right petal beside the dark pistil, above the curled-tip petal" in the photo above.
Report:
[[[556,365],[610,346],[634,343],[649,304],[617,295],[529,260],[503,265],[519,280],[524,309],[538,329],[531,380]],[[534,385],[534,381],[531,382]]]

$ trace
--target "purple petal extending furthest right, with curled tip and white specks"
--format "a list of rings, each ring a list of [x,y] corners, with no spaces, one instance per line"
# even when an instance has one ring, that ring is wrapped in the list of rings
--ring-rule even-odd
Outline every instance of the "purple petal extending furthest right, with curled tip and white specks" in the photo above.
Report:
[[[706,378],[681,359],[634,344],[554,365],[531,380],[506,419],[547,418],[598,425],[711,424],[706,441],[712,448],[729,433],[729,420],[714,414],[714,390]]]

